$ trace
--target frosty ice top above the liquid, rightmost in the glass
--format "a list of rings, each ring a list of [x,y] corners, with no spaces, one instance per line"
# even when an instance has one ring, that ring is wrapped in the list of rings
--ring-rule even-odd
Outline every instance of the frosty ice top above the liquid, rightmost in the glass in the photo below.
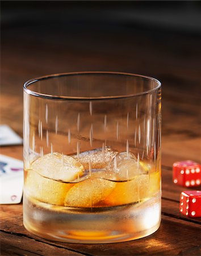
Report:
[[[127,152],[117,154],[106,167],[106,171],[113,171],[120,180],[131,180],[137,175],[147,174],[140,163],[137,163],[136,157],[131,153],[127,154]]]

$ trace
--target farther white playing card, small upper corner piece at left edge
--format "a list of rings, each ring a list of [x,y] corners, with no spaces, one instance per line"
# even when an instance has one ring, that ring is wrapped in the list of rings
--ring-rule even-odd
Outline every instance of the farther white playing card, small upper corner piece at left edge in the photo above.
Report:
[[[22,144],[22,138],[7,125],[0,125],[0,146]]]

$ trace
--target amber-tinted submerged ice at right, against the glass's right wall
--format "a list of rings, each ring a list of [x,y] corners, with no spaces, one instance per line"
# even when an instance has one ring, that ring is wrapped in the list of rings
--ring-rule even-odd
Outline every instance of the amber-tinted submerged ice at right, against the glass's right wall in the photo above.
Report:
[[[160,172],[154,172],[150,177],[148,174],[137,175],[133,180],[116,182],[115,188],[101,202],[101,206],[137,203],[158,191],[160,191]]]

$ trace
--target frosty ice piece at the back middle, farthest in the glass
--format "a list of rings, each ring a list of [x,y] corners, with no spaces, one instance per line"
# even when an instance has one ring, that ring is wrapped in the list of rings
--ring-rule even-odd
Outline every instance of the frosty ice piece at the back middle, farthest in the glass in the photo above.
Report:
[[[77,155],[73,155],[73,157],[82,163],[85,170],[89,170],[89,162],[91,162],[91,169],[102,169],[114,159],[116,154],[116,151],[105,147],[104,150],[102,148],[96,148],[82,152],[79,154],[79,158],[77,158]]]

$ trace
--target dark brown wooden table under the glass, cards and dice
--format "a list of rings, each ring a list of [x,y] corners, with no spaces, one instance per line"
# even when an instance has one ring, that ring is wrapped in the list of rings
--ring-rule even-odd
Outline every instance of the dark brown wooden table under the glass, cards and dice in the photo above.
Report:
[[[3,31],[1,123],[22,135],[22,84],[32,77],[107,70],[161,80],[162,222],[156,233],[136,241],[62,243],[28,233],[22,223],[22,204],[1,205],[1,255],[200,255],[201,218],[179,213],[179,195],[188,189],[172,182],[174,162],[201,162],[199,38],[141,28],[112,33],[71,31],[71,36],[64,36],[59,29],[53,32],[41,33],[37,27]],[[1,154],[22,159],[22,146],[0,150]]]

